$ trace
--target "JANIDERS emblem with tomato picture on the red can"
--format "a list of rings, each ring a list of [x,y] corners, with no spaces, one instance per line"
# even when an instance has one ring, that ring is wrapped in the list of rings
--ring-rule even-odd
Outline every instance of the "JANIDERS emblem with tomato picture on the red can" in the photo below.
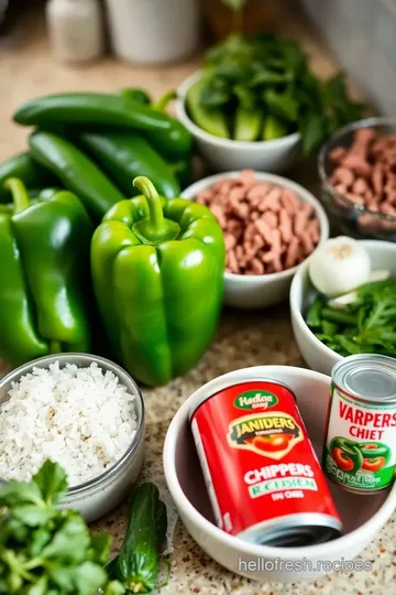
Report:
[[[292,415],[276,411],[238,418],[229,426],[228,443],[278,461],[304,440],[301,428]]]

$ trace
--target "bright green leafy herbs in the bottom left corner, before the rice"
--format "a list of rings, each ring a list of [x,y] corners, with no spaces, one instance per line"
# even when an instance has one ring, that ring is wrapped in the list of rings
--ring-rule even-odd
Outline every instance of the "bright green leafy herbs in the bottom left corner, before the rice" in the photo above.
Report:
[[[82,517],[59,510],[66,474],[46,461],[31,482],[10,480],[0,491],[0,594],[121,595],[105,570],[111,538],[89,534]]]

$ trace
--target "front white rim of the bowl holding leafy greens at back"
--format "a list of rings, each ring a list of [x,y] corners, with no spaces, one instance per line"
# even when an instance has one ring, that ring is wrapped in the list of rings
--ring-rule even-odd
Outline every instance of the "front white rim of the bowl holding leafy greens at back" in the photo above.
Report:
[[[223,147],[224,149],[240,149],[245,151],[246,149],[251,150],[263,150],[263,148],[272,149],[275,145],[283,145],[283,144],[293,144],[297,143],[301,136],[297,132],[292,132],[290,134],[287,134],[286,137],[282,137],[280,139],[272,139],[267,141],[238,141],[233,139],[222,139],[220,137],[216,137],[215,134],[210,134],[206,130],[202,130],[197,126],[188,116],[185,101],[186,101],[186,95],[190,86],[196,83],[199,78],[202,77],[202,69],[196,71],[191,75],[189,75],[187,78],[184,79],[184,82],[178,86],[177,88],[177,98],[175,101],[175,115],[177,119],[187,128],[189,131],[195,134],[196,137],[200,137],[201,139],[211,142],[213,144],[217,144],[218,147]]]

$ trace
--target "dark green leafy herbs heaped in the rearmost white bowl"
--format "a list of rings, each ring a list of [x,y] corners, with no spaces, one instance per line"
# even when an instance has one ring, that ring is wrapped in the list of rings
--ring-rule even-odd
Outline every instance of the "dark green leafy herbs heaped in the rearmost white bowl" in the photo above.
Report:
[[[235,10],[243,4],[232,0],[224,3]],[[254,140],[270,140],[299,131],[307,155],[336,129],[363,115],[363,106],[349,98],[342,74],[329,80],[319,79],[298,43],[272,33],[251,39],[232,34],[211,48],[205,60],[198,96],[195,93],[195,110],[190,116],[198,126],[200,109],[206,118],[213,111],[216,118],[221,115],[231,121],[233,138],[238,134],[239,139],[246,136],[251,140],[253,131],[241,134],[239,123],[234,123],[240,108],[251,110],[260,113],[262,119],[258,134],[254,128]],[[274,136],[265,128],[268,118],[277,121]],[[224,138],[228,137],[224,128]]]

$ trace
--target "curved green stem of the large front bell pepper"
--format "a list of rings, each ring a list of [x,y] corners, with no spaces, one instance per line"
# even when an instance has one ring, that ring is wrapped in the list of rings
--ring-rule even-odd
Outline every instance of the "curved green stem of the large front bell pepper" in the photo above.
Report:
[[[141,191],[148,207],[148,217],[136,221],[132,227],[135,236],[142,244],[152,246],[176,239],[180,227],[176,221],[165,219],[161,198],[154,184],[148,177],[141,175],[134,178],[133,186]]]

